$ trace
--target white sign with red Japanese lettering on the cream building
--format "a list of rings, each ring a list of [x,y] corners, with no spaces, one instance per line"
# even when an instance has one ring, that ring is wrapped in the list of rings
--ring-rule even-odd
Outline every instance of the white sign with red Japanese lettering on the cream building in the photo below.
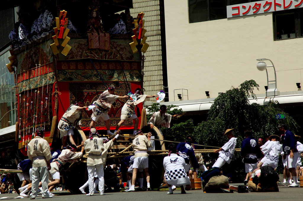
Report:
[[[303,0],[265,0],[226,6],[227,18],[303,8]]]

